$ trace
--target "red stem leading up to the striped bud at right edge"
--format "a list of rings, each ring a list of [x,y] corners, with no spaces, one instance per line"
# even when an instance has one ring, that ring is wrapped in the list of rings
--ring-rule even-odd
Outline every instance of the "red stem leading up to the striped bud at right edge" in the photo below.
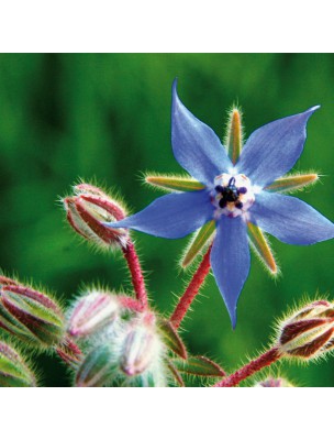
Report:
[[[274,346],[266,353],[261,354],[259,358],[255,359],[254,361],[250,361],[247,365],[244,365],[241,370],[236,371],[235,373],[231,374],[231,376],[224,378],[223,381],[219,382],[213,386],[214,387],[235,386],[240,382],[252,376],[252,374],[258,372],[265,366],[272,364],[272,362],[278,361],[281,358],[281,355],[282,353],[280,353],[279,350],[276,346]]]

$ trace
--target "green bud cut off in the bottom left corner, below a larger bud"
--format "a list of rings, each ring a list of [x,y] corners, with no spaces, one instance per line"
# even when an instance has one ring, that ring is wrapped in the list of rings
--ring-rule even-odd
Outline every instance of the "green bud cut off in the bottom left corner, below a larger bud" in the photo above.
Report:
[[[0,341],[0,386],[36,386],[34,374],[20,354]]]

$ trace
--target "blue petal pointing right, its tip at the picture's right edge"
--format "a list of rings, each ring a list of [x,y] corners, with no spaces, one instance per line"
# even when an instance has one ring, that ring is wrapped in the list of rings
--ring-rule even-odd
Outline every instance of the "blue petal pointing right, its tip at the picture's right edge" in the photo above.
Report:
[[[250,221],[289,244],[313,244],[334,238],[334,224],[296,197],[261,191],[250,209]]]

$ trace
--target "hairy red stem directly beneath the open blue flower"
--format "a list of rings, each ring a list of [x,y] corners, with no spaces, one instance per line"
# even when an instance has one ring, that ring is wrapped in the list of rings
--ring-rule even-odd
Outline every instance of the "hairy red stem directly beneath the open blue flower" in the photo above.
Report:
[[[201,285],[203,284],[207,275],[210,272],[210,253],[211,246],[208,249],[208,252],[203,256],[201,264],[199,265],[198,270],[196,271],[189,286],[187,287],[185,294],[181,296],[178,305],[176,306],[171,317],[170,322],[177,329],[182,319],[185,318],[191,302],[193,301],[194,297],[199,293]]]

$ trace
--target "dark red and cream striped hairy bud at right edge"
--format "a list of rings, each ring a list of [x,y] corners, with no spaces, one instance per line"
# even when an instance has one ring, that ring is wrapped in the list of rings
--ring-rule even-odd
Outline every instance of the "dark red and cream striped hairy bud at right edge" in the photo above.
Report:
[[[288,318],[280,328],[279,350],[289,356],[311,359],[334,348],[334,307],[314,301]]]

